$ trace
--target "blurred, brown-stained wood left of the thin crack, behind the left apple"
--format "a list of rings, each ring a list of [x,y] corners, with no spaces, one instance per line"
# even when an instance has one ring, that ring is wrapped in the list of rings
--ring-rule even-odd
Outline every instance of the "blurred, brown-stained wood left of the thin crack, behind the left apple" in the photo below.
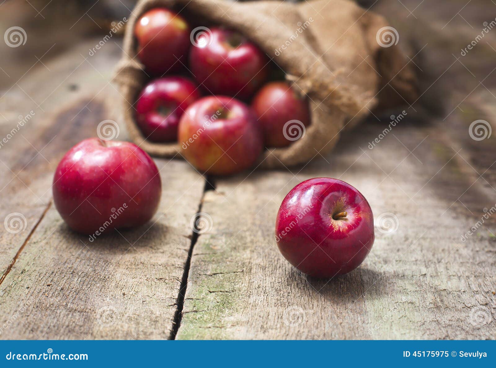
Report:
[[[104,99],[116,94],[108,81],[120,49],[109,43],[85,61],[82,55],[96,42],[87,40],[53,57],[49,52],[43,64],[27,66],[32,66],[28,73],[11,77],[0,91],[0,220],[3,226],[9,214],[20,213],[9,219],[21,219],[22,228],[25,224],[24,231],[0,233],[0,277],[47,208],[53,172],[64,152],[95,136],[100,121],[94,119],[115,119]],[[91,110],[93,117],[84,116]],[[121,136],[125,139],[125,132]]]

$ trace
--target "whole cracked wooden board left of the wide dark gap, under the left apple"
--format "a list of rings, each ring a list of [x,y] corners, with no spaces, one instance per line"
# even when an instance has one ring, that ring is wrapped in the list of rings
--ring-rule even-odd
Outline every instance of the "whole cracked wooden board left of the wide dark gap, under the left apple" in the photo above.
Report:
[[[69,231],[50,206],[53,172],[63,153],[95,136],[101,121],[118,121],[103,101],[117,93],[108,81],[120,49],[108,43],[85,60],[82,55],[98,41],[44,60],[46,69],[33,68],[2,99],[2,134],[16,124],[20,109],[36,108],[33,120],[0,151],[6,164],[1,183],[7,184],[1,194],[9,198],[2,214],[15,210],[28,224],[22,233],[1,233],[0,320],[8,326],[0,331],[2,339],[168,338],[172,331],[203,177],[185,162],[157,160],[164,191],[153,221],[93,243]],[[119,139],[125,138],[121,126]]]

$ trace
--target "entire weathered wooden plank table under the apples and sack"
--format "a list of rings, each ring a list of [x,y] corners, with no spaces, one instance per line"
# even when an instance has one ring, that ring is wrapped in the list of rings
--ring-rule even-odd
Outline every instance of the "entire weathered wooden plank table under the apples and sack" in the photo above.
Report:
[[[0,220],[21,219],[21,231],[0,233],[0,338],[494,339],[496,216],[481,221],[496,205],[496,134],[474,140],[469,125],[495,129],[496,30],[460,53],[496,5],[466,2],[374,4],[412,56],[422,50],[412,62],[424,93],[373,149],[388,116],[288,170],[205,178],[156,159],[163,195],[153,221],[93,243],[63,223],[51,181],[67,149],[119,121],[108,101],[118,97],[109,81],[122,40],[90,57],[102,35],[83,31],[87,16],[56,22],[26,3],[0,5],[1,24],[22,24],[28,37],[0,46],[0,137],[11,135],[0,148]],[[397,219],[393,232],[377,225],[359,269],[331,280],[291,267],[273,236],[286,193],[320,176],[359,188],[376,219]],[[196,234],[199,212],[211,227]]]

